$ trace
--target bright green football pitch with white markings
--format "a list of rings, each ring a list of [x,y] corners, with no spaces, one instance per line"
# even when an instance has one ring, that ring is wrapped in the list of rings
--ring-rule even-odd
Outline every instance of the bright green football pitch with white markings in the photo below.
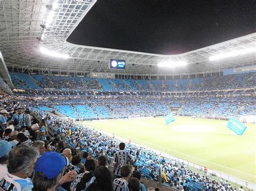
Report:
[[[177,116],[169,125],[163,117],[82,123],[256,183],[255,124],[247,124],[244,135],[237,136],[226,127],[227,121],[215,119]]]

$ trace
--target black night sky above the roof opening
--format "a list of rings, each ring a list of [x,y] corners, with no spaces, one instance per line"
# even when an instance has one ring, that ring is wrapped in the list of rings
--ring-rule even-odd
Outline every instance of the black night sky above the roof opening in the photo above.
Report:
[[[256,31],[256,0],[98,0],[68,41],[177,54]]]

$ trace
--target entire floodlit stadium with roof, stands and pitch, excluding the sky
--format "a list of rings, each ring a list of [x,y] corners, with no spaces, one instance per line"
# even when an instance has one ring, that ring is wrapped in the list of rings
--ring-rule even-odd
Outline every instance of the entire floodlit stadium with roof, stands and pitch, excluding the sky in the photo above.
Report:
[[[88,172],[79,189],[122,190],[85,161],[123,180],[125,143],[144,190],[256,190],[255,30],[178,54],[71,43],[100,3],[0,1],[0,188],[78,190]]]

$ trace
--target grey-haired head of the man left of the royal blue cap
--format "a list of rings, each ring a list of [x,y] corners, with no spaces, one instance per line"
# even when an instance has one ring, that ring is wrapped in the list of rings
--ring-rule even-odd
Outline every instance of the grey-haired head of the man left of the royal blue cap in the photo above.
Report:
[[[39,156],[35,147],[20,145],[10,151],[8,160],[8,172],[26,179],[31,176],[33,167]]]

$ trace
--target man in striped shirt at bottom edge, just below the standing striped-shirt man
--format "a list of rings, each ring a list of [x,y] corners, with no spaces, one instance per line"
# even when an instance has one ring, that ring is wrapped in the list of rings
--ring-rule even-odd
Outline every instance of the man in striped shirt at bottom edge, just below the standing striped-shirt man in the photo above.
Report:
[[[113,190],[114,191],[129,191],[128,180],[132,174],[132,168],[130,165],[124,165],[121,167],[121,178],[114,179]]]

